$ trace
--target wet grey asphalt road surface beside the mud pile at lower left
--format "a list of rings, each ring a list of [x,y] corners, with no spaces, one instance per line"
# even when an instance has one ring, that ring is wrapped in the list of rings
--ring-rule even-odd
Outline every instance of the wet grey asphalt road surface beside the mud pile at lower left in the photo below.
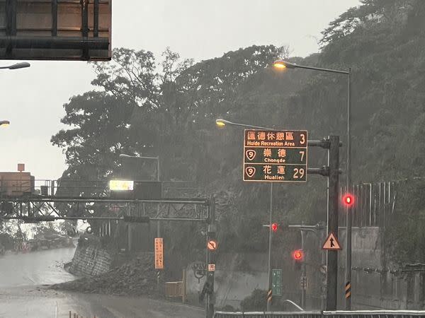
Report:
[[[149,298],[67,293],[47,289],[52,283],[74,276],[62,264],[74,256],[74,248],[48,249],[0,257],[0,317],[205,317],[201,308]]]

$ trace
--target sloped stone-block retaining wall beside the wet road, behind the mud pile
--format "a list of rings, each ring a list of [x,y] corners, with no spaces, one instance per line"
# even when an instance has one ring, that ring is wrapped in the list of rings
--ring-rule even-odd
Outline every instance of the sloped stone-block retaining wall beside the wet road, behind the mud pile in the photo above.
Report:
[[[94,246],[78,245],[69,272],[76,276],[95,276],[109,271],[111,253]]]

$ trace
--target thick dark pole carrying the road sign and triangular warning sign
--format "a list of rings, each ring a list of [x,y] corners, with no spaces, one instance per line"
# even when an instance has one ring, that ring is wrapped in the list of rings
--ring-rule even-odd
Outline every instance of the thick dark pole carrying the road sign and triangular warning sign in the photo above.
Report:
[[[338,238],[339,136],[329,136],[328,167],[327,234]],[[338,251],[331,250],[327,251],[327,311],[336,310],[337,288]]]

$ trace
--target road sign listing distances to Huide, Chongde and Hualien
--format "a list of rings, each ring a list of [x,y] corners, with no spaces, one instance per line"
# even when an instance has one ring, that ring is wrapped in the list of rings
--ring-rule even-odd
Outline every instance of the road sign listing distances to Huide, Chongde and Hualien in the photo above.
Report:
[[[245,130],[244,181],[306,180],[307,131]]]

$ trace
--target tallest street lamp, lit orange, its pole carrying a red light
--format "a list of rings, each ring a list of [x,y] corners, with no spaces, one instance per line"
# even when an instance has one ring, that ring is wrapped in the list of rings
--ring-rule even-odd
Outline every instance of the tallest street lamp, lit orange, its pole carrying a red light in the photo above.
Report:
[[[350,191],[351,186],[351,68],[348,71],[338,69],[323,69],[321,67],[305,66],[290,63],[282,59],[274,61],[273,67],[275,69],[310,69],[314,71],[324,71],[328,73],[339,73],[347,76],[347,178],[346,178],[346,191]],[[346,283],[351,283],[351,226],[353,223],[353,215],[350,206],[347,206],[346,215]],[[351,310],[351,297],[346,298],[346,310]]]

